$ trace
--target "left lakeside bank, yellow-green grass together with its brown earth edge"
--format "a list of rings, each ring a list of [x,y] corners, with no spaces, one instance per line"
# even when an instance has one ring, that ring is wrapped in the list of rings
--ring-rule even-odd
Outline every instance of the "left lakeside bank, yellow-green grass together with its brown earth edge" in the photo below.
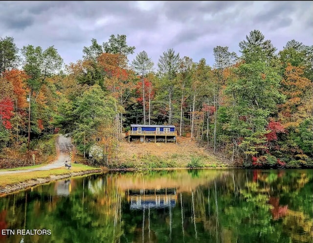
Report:
[[[44,171],[3,174],[0,175],[0,194],[16,191],[22,188],[26,188],[40,183],[50,182],[61,178],[89,173],[97,173],[101,171],[101,168],[95,168],[84,164],[72,164],[72,168],[70,170],[61,167],[58,169]]]

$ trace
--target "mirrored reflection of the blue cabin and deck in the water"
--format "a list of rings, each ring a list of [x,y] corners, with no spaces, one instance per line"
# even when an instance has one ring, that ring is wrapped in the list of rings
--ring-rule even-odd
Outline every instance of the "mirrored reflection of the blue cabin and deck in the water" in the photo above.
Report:
[[[128,189],[126,196],[132,210],[144,208],[172,208],[175,207],[177,202],[177,189]]]

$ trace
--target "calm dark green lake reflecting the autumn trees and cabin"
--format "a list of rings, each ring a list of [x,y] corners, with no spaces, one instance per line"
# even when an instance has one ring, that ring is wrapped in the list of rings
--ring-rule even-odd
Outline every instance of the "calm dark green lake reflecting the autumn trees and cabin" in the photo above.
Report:
[[[112,172],[0,197],[0,243],[115,242],[313,243],[313,170]]]

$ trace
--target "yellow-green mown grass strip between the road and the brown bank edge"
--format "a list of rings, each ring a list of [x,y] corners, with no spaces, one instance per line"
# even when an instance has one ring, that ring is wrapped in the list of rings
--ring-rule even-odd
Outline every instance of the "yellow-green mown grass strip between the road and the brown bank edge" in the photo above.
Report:
[[[35,168],[39,167],[37,165],[35,166],[29,166],[29,168]],[[26,169],[26,167],[23,167]],[[18,168],[15,169],[10,169],[10,170],[17,170]],[[83,171],[97,171],[101,170],[101,168],[96,168],[96,167],[91,167],[87,166],[84,164],[72,164],[72,168],[65,169],[64,167],[57,168],[57,169],[51,169],[51,170],[41,170],[41,171],[31,171],[31,172],[21,172],[21,173],[14,173],[14,174],[4,174],[0,175],[0,187],[4,187],[6,185],[12,185],[12,184],[17,184],[20,182],[27,182],[29,180],[36,180],[38,178],[49,178],[50,176],[58,176],[58,175],[65,175],[65,174],[70,174],[70,173],[75,173],[75,172],[83,172]],[[5,170],[1,170],[5,171]]]

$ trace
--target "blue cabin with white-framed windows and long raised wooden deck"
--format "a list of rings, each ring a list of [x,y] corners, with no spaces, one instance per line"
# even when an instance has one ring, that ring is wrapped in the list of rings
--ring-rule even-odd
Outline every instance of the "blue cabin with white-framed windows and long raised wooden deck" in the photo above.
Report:
[[[125,134],[128,142],[176,142],[177,131],[173,125],[131,124],[131,130]]]

